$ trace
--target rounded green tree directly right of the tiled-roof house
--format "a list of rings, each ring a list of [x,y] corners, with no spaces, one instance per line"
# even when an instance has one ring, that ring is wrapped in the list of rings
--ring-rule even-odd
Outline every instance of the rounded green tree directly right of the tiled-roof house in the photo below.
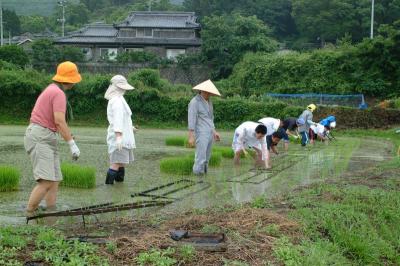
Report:
[[[213,65],[216,77],[227,77],[245,53],[275,51],[277,43],[269,36],[270,29],[255,16],[233,13],[205,17],[202,53]]]

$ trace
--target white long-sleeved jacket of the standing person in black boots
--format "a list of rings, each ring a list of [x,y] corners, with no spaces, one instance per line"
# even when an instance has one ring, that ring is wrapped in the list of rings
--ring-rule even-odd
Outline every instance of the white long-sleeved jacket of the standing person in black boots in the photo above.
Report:
[[[110,123],[107,130],[108,153],[113,153],[117,149],[115,132],[122,133],[123,148],[136,148],[131,116],[131,108],[123,96],[113,97],[108,101],[107,119]]]

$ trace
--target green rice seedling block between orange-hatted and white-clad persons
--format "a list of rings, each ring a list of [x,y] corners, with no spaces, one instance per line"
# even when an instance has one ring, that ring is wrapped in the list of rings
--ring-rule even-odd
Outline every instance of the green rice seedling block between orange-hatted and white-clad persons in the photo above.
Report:
[[[62,164],[63,181],[61,185],[73,188],[94,188],[96,186],[96,168],[75,164]]]

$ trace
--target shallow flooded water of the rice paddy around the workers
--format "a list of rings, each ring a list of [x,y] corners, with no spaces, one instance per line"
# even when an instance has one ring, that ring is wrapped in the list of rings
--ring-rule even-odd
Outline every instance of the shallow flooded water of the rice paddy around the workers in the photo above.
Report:
[[[12,165],[22,173],[20,189],[0,193],[0,224],[24,224],[24,209],[35,184],[28,155],[23,148],[25,127],[0,126],[0,164]],[[346,171],[363,169],[385,160],[391,144],[374,139],[340,138],[325,145],[302,148],[291,144],[287,154],[273,156],[269,171],[252,170],[252,160],[243,160],[240,168],[233,167],[231,159],[223,159],[221,167],[211,168],[206,177],[173,176],[160,173],[159,161],[168,156],[192,153],[184,147],[165,145],[168,136],[184,136],[184,130],[143,129],[136,135],[135,162],[126,169],[125,182],[104,185],[108,169],[105,128],[74,128],[76,142],[81,149],[78,162],[70,159],[69,148],[60,144],[64,162],[97,169],[94,189],[61,187],[57,208],[66,210],[106,202],[129,203],[141,200],[174,202],[157,211],[181,213],[193,208],[249,202],[259,195],[274,197],[287,194],[298,186],[323,179],[339,177]],[[230,146],[233,132],[221,132],[218,145]],[[282,150],[283,147],[280,147]],[[158,188],[166,185],[165,187]],[[134,197],[131,197],[131,195]],[[140,215],[154,208],[102,214],[107,219],[121,215]],[[71,218],[60,218],[68,222]],[[71,220],[72,221],[72,220]]]

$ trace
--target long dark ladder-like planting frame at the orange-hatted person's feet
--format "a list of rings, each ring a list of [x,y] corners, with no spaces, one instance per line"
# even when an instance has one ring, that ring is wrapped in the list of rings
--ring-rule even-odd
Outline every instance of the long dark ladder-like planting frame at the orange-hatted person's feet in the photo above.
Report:
[[[164,207],[168,204],[171,204],[173,201],[142,201],[142,202],[135,202],[135,203],[125,203],[125,204],[107,204],[100,207],[93,207],[88,208],[84,207],[81,209],[73,209],[73,210],[66,210],[60,212],[49,212],[49,213],[42,213],[35,216],[27,217],[26,223],[28,224],[30,220],[35,220],[39,218],[45,217],[62,217],[62,216],[80,216],[82,215],[83,223],[85,224],[84,217],[85,215],[93,215],[99,213],[108,213],[108,212],[118,212],[118,211],[125,211],[125,210],[133,210],[133,209],[143,209],[149,207]],[[103,205],[103,204],[101,204]]]

